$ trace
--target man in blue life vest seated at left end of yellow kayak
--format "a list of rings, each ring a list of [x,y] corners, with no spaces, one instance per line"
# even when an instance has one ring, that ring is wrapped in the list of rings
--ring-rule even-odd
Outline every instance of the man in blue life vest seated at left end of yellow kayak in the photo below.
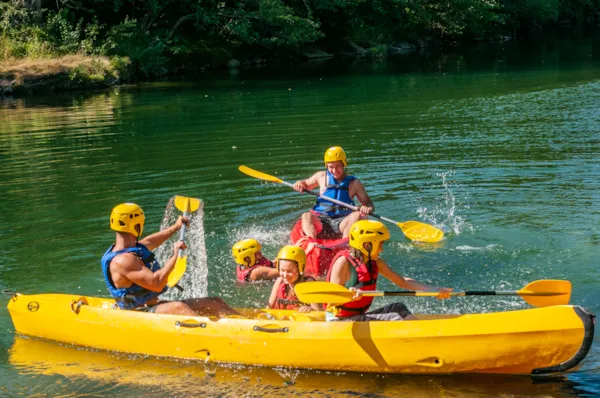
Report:
[[[139,240],[144,221],[144,212],[134,203],[120,204],[110,215],[116,242],[104,253],[101,264],[106,286],[119,308],[190,316],[239,315],[218,297],[159,300],[158,296],[168,289],[167,280],[175,267],[177,253],[186,246],[182,241],[175,243],[173,254],[162,268],[152,250],[179,231],[183,223],[189,225],[189,220],[180,216],[169,228]]]

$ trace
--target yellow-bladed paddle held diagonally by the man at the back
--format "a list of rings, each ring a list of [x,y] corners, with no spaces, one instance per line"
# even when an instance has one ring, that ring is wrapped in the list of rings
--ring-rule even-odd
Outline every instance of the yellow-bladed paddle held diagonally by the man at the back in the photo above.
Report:
[[[238,169],[242,173],[249,175],[250,177],[258,178],[259,180],[276,182],[278,184],[286,185],[292,189],[294,188],[294,185],[290,184],[287,181],[283,181],[282,179],[277,178],[275,176],[262,173],[258,170],[251,169],[250,167],[242,165],[242,166],[238,167]],[[320,199],[335,203],[336,205],[346,207],[348,209],[352,209],[354,211],[358,211],[358,209],[359,209],[357,206],[349,205],[348,203],[341,202],[337,199],[328,198],[326,196],[321,196],[318,193],[313,192],[313,191],[303,191],[303,192],[308,193],[313,196],[316,196]],[[369,214],[369,215],[372,217],[378,218],[380,220],[387,221],[392,224],[396,224],[402,230],[404,235],[410,240],[415,240],[417,242],[424,242],[424,243],[433,243],[433,242],[439,242],[444,237],[444,233],[441,230],[439,230],[438,228],[436,228],[432,225],[429,225],[429,224],[419,222],[419,221],[398,222],[398,221],[394,221],[387,217],[383,217],[383,216],[380,216],[377,214]]]

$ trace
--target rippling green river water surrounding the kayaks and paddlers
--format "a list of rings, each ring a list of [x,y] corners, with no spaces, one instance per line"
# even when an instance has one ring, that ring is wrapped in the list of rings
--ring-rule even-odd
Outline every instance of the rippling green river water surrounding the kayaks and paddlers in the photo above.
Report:
[[[568,279],[571,302],[598,313],[599,110],[600,41],[587,39],[4,99],[0,289],[106,295],[99,260],[114,239],[112,207],[140,204],[151,233],[174,219],[167,203],[180,194],[205,201],[203,223],[196,217],[191,228],[186,294],[262,307],[270,285],[238,285],[230,247],[255,237],[274,257],[313,201],[237,167],[293,182],[341,145],[379,214],[446,232],[424,246],[390,226],[383,257],[399,273],[457,290]],[[544,378],[205,366],[18,337],[8,299],[0,297],[0,396],[600,394],[598,337],[578,369]],[[527,307],[495,297],[405,302],[419,313]]]

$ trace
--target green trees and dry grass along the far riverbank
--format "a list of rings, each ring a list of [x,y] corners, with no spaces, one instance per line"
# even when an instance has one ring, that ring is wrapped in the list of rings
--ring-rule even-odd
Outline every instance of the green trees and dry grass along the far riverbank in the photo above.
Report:
[[[94,85],[330,55],[379,58],[561,24],[593,28],[599,13],[600,0],[0,0],[0,79],[6,87],[50,74],[48,59],[59,75]]]

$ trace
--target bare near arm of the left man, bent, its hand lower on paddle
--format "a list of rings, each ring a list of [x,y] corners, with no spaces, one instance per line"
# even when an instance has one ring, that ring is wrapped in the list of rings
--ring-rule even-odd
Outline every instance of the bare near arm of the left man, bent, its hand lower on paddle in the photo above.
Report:
[[[150,271],[144,265],[144,262],[133,254],[121,254],[115,257],[110,264],[113,280],[115,280],[115,284],[118,281],[118,285],[121,285],[122,283],[120,282],[123,282],[123,279],[127,279],[150,291],[160,292],[166,286],[169,274],[175,267],[177,252],[179,249],[184,249],[185,247],[184,242],[175,243],[173,245],[173,255],[167,260],[164,267],[156,272]],[[118,276],[117,278],[114,277],[115,273]]]

